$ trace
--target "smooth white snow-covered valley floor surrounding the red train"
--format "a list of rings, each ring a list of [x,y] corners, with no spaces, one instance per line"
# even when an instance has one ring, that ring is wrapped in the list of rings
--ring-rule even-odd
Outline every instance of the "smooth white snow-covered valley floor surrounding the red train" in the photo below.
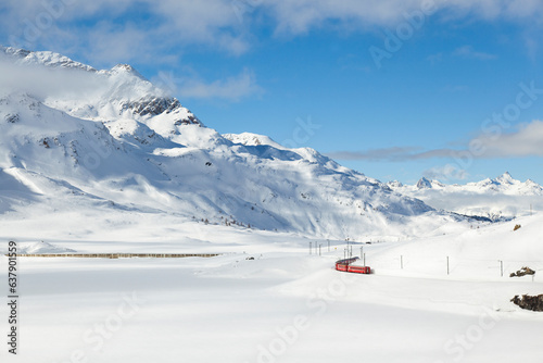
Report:
[[[9,354],[3,342],[0,358],[33,363],[539,362],[543,313],[509,301],[515,295],[543,293],[541,218],[520,222],[518,234],[502,224],[364,245],[372,275],[333,270],[344,242],[331,241],[328,251],[326,240],[226,227],[207,226],[203,239],[192,236],[182,243],[175,238],[164,243],[49,240],[50,249],[81,253],[224,254],[20,258],[18,354]],[[17,240],[21,250],[36,248],[26,243],[30,239]],[[308,254],[310,241],[323,245],[321,255]],[[361,246],[354,245],[353,254]],[[509,278],[523,263],[536,270],[534,278]],[[0,258],[2,284],[7,265]],[[5,304],[0,316],[7,340]]]

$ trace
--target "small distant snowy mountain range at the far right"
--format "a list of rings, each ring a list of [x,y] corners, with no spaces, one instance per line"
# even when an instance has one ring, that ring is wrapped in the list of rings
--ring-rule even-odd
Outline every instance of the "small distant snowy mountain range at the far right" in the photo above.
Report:
[[[520,182],[509,173],[465,185],[446,185],[422,177],[416,185],[387,183],[391,189],[424,200],[437,209],[498,220],[543,210],[543,187],[533,180]]]

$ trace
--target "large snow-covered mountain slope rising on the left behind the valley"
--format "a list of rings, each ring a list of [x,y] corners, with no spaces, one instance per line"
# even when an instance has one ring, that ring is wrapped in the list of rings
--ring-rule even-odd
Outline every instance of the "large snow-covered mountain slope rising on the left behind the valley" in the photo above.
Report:
[[[465,221],[315,150],[219,135],[129,65],[97,71],[51,52],[0,48],[0,67],[4,215],[35,205],[164,213],[352,239]]]

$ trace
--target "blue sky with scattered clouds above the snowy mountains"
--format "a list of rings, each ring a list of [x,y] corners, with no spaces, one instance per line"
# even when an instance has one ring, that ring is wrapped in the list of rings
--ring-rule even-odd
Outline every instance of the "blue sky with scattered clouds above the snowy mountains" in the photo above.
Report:
[[[220,133],[383,182],[543,184],[542,15],[536,0],[5,0],[0,43],[130,63]]]

